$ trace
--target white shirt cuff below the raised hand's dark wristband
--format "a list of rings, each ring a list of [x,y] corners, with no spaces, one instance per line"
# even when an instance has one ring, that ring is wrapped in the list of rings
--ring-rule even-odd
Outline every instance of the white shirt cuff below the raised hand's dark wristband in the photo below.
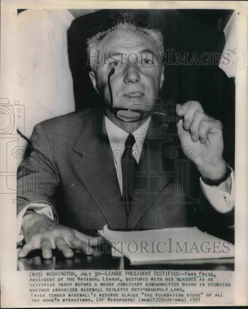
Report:
[[[231,168],[231,167],[230,167]],[[200,184],[205,197],[208,199],[210,204],[220,213],[229,212],[234,208],[235,204],[235,183],[234,183],[234,170],[231,168],[231,192],[227,193],[205,184],[200,178]]]

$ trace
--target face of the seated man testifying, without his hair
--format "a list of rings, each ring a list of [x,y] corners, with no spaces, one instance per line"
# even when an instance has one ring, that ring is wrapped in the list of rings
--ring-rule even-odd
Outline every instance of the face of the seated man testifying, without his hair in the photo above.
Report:
[[[108,75],[113,67],[115,72],[110,83],[114,108],[132,108],[134,100],[133,108],[144,108],[147,98],[159,96],[164,81],[163,67],[156,62],[159,51],[149,36],[139,31],[115,30],[103,38],[99,49],[100,64],[96,72],[90,72],[90,78],[108,106]],[[106,112],[113,121],[114,114],[109,110]]]

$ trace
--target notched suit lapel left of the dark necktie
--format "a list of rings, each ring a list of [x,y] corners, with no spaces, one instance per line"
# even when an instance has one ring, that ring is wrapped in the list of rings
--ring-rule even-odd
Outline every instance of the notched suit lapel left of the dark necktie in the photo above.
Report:
[[[104,114],[92,113],[73,148],[82,155],[75,168],[110,228],[126,228],[126,211],[118,199],[120,190],[110,149]]]

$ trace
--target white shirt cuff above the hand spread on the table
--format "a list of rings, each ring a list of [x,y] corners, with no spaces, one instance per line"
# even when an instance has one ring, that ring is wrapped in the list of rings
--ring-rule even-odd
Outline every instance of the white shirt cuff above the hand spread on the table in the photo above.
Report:
[[[23,216],[27,210],[33,210],[38,214],[44,214],[48,216],[50,219],[54,220],[54,215],[52,213],[52,208],[48,204],[43,203],[30,203],[26,205],[17,216],[17,243],[21,242],[24,239],[24,235],[22,234],[22,222]]]

